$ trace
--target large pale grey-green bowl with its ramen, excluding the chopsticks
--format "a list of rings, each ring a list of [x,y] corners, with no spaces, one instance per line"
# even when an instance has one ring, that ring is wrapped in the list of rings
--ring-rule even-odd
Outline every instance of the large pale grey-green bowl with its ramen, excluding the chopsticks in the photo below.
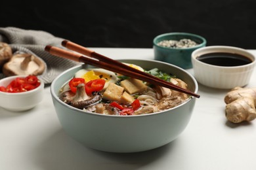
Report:
[[[175,65],[141,59],[120,61],[155,75],[160,73],[165,78],[171,75],[169,80],[177,86],[198,92],[196,79]],[[93,81],[79,82],[79,78],[92,75],[105,77],[106,87],[96,93],[83,94],[86,102],[76,103],[72,99],[79,97],[74,96],[87,93],[87,86],[91,87],[89,82]],[[119,81],[119,78],[123,79]],[[79,84],[76,91],[72,92],[75,83],[70,82],[75,80]],[[130,81],[128,86],[127,81]],[[134,81],[140,84],[137,80],[112,75],[89,65],[79,65],[61,73],[51,84],[51,96],[64,131],[84,146],[106,152],[151,150],[177,139],[190,121],[196,98],[146,82],[136,85],[139,91],[134,88],[131,90],[134,85],[131,82]],[[116,97],[117,93],[119,97]],[[102,97],[100,100],[98,95]],[[136,102],[138,100],[139,104]],[[81,103],[85,105],[81,107]]]

